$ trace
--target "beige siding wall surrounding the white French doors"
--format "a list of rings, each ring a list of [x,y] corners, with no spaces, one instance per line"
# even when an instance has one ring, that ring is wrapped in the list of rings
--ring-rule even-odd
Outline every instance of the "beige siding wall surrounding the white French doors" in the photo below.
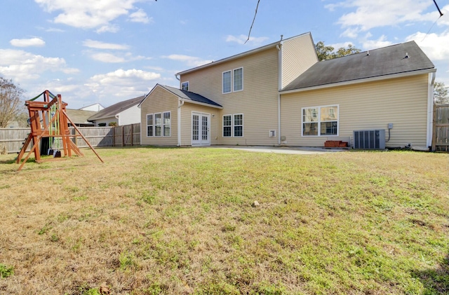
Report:
[[[220,110],[185,102],[181,107],[181,145],[192,145],[192,112],[210,114],[210,144],[217,144],[215,137],[219,136],[218,123],[220,122]]]

